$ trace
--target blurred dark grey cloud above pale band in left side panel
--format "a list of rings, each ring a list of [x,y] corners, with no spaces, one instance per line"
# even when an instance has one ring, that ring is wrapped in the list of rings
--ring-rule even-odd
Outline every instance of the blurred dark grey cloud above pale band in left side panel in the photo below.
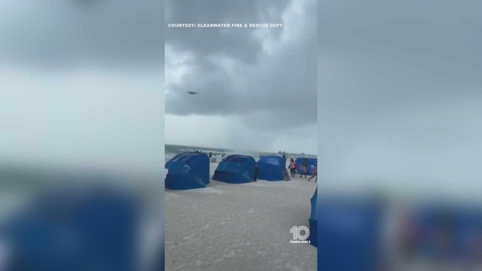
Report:
[[[0,10],[0,56],[9,60],[162,64],[161,1],[8,1]]]

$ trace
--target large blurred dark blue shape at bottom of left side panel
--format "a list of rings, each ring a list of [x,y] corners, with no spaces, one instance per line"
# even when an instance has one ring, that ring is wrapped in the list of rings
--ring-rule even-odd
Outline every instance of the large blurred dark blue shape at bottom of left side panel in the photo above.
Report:
[[[12,217],[2,235],[12,271],[134,271],[137,205],[108,191],[56,192]]]

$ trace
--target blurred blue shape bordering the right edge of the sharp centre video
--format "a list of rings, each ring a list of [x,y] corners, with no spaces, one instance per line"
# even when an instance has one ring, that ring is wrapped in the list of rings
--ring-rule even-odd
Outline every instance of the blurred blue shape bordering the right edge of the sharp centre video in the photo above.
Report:
[[[372,197],[318,198],[318,268],[374,271],[380,261],[381,204]]]

